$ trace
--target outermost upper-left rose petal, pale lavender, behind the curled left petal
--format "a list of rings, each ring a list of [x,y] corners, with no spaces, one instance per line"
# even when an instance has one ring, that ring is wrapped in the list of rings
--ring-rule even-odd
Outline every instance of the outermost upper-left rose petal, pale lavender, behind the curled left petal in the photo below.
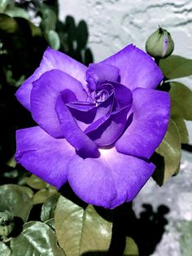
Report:
[[[22,86],[20,86],[19,90],[17,90],[15,94],[20,103],[28,110],[31,109],[30,95],[33,88],[33,82],[41,77],[43,73],[51,69],[59,69],[64,73],[68,73],[68,75],[76,78],[76,80],[85,86],[85,72],[87,67],[84,64],[73,60],[68,55],[52,50],[50,47],[48,47],[44,52],[40,67],[36,69],[31,77],[28,77],[28,79],[22,84]]]

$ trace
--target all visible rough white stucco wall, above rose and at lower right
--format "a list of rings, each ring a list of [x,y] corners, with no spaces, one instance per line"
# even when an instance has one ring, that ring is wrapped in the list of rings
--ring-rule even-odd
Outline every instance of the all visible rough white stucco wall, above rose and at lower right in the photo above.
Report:
[[[192,58],[192,1],[191,0],[60,0],[60,19],[72,15],[76,22],[85,20],[89,29],[89,47],[95,62],[103,60],[133,42],[145,49],[146,38],[162,26],[172,34],[175,42],[174,54]],[[192,89],[192,79],[181,79]],[[188,122],[190,143],[192,125]],[[190,256],[185,245],[192,236],[187,233],[192,221],[192,155],[183,152],[181,172],[159,188],[151,179],[136,197],[135,210],[142,210],[142,204],[151,204],[154,209],[161,204],[170,209],[168,225],[162,241],[153,256]],[[182,223],[189,229],[182,229]],[[185,230],[185,232],[183,232]],[[188,243],[188,244],[187,244]]]

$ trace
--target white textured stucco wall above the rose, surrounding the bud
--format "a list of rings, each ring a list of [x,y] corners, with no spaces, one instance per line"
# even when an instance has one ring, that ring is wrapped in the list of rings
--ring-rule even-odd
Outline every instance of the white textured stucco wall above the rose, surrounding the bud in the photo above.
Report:
[[[85,20],[95,61],[146,38],[161,25],[175,42],[175,54],[192,58],[191,0],[60,0],[60,19]]]

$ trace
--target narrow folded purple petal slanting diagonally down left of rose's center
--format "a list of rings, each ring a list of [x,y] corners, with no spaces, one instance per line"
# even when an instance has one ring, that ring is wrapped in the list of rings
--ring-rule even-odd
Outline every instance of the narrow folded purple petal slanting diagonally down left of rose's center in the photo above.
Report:
[[[72,113],[70,113],[62,98],[63,95],[59,95],[55,104],[55,110],[65,139],[67,139],[72,147],[76,148],[77,153],[81,157],[99,157],[97,145],[76,124]]]

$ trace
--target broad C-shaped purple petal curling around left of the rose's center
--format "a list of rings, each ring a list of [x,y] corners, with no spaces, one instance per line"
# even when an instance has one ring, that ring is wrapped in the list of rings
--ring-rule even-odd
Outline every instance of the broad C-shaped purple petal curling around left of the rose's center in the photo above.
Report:
[[[71,90],[80,100],[85,100],[87,97],[81,82],[57,69],[44,73],[36,82],[33,82],[31,91],[33,119],[55,138],[63,138],[63,131],[60,129],[58,116],[55,113],[55,103],[60,92],[66,89]]]

